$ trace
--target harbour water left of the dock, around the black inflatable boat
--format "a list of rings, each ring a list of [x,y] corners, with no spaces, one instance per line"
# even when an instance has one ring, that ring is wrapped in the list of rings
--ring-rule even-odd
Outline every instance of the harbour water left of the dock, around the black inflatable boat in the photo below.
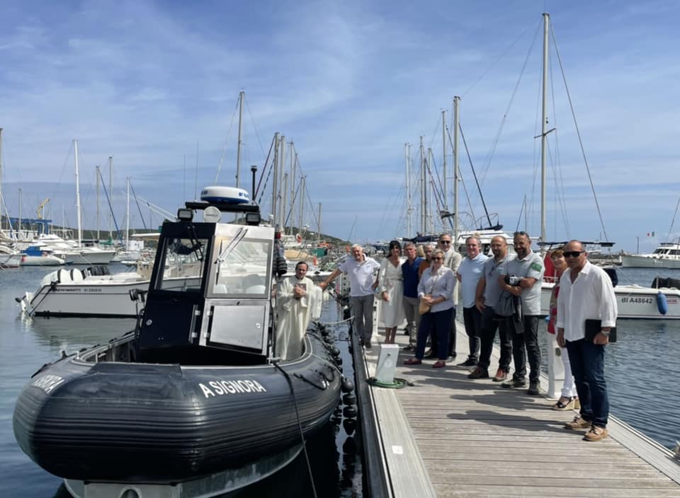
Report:
[[[0,496],[67,498],[69,493],[59,477],[50,475],[26,456],[17,446],[12,431],[12,413],[16,398],[30,376],[42,364],[54,361],[62,351],[74,352],[82,347],[106,342],[135,326],[132,319],[35,318],[21,317],[16,296],[35,291],[40,279],[52,270],[18,268],[0,270]],[[125,267],[111,265],[112,272]],[[337,321],[334,303],[324,308],[322,321]],[[344,373],[353,378],[351,357],[347,351],[347,327],[336,327],[338,347]],[[361,497],[361,458],[344,453],[348,438],[341,424],[328,424],[308,441],[314,486],[319,497]],[[351,445],[350,445],[351,446]],[[280,473],[237,494],[239,497],[314,496],[309,470],[302,455]]]

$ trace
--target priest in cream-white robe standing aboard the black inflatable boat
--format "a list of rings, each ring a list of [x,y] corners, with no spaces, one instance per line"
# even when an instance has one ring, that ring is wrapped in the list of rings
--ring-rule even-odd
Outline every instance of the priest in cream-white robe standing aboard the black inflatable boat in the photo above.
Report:
[[[302,337],[312,319],[321,315],[322,291],[307,278],[307,263],[295,265],[295,275],[278,284],[276,328],[276,356],[283,360],[295,359],[302,355]]]

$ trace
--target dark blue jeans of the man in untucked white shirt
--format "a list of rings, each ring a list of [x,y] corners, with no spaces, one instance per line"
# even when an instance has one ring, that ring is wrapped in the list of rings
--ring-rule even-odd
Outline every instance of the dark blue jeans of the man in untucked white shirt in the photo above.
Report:
[[[567,341],[581,417],[598,427],[607,427],[609,397],[604,380],[604,346],[585,339]]]

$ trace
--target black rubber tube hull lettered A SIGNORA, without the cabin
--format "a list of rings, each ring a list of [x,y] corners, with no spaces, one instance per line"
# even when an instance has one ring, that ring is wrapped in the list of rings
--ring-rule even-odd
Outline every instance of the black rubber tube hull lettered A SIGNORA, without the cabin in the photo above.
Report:
[[[281,364],[305,433],[327,422],[341,376],[321,340]],[[306,379],[306,380],[305,380]],[[84,365],[67,358],[23,389],[13,418],[19,446],[68,479],[176,482],[299,444],[288,380],[274,366],[181,368]]]

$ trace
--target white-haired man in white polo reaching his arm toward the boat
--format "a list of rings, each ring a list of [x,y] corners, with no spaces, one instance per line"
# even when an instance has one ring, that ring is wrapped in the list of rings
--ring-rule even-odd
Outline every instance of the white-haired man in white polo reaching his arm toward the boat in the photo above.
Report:
[[[354,315],[353,328],[361,344],[370,349],[373,345],[370,342],[373,335],[373,289],[375,273],[380,270],[380,263],[373,257],[366,256],[359,244],[352,245],[350,253],[352,257],[341,262],[319,287],[326,289],[339,274],[348,274],[349,303]]]

